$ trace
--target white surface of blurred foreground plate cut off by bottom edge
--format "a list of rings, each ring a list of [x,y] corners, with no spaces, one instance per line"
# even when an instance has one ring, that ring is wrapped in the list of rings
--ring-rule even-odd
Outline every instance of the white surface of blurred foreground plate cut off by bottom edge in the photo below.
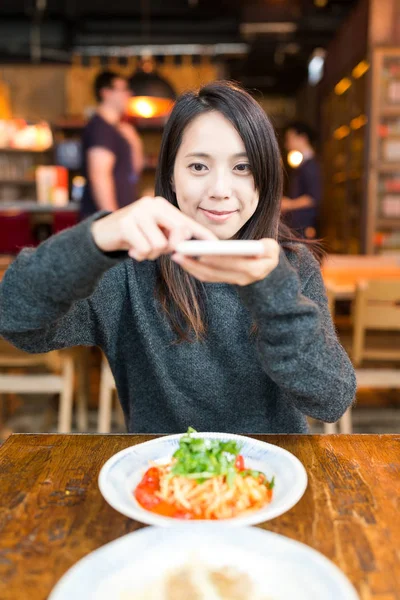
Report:
[[[246,573],[268,600],[358,598],[343,573],[304,544],[256,528],[191,523],[148,527],[103,546],[72,567],[48,600],[130,600],[191,559]]]

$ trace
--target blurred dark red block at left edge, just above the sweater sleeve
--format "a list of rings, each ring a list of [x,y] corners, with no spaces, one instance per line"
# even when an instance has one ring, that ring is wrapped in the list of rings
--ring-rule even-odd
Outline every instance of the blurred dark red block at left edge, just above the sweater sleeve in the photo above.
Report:
[[[36,245],[28,213],[0,211],[1,254],[17,254],[25,246]]]

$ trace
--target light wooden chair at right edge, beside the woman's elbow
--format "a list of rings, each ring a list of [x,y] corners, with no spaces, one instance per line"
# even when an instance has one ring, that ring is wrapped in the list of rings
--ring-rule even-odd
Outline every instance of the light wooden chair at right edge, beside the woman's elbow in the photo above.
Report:
[[[368,343],[368,331],[399,332],[396,347]],[[365,360],[400,361],[400,281],[369,280],[357,285],[354,305],[352,360],[357,389],[400,388],[400,368],[360,368]],[[342,433],[351,433],[351,409],[339,421]],[[325,433],[335,433],[336,423],[326,423]]]

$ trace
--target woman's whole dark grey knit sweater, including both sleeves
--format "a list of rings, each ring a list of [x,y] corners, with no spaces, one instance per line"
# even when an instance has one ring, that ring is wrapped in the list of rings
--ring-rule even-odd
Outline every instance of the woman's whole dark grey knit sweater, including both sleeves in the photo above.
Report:
[[[205,284],[206,341],[174,344],[155,263],[103,254],[91,221],[19,254],[0,284],[0,333],[28,352],[100,346],[129,432],[306,432],[306,415],[336,421],[350,406],[354,371],[304,246],[257,283]]]

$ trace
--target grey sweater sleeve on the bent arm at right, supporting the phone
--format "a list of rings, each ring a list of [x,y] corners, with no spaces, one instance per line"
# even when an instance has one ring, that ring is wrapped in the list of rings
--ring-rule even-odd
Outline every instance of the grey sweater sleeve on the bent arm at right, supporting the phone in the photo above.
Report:
[[[274,271],[239,295],[258,326],[267,375],[302,413],[335,422],[353,402],[355,373],[337,339],[319,265],[303,252],[311,261],[303,290],[281,250]]]

